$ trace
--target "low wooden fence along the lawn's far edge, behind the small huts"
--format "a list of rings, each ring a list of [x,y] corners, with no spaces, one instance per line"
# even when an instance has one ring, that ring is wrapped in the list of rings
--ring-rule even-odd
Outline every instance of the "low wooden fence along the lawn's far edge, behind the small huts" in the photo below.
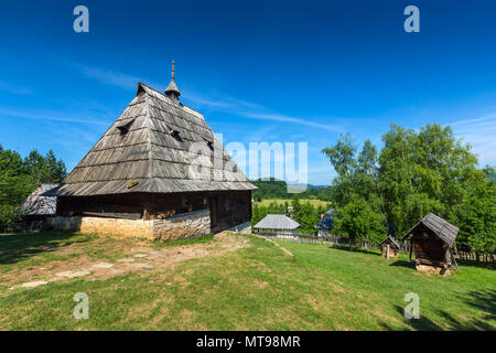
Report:
[[[333,245],[333,246],[343,246],[349,247],[349,239],[343,236],[330,235],[330,236],[317,236],[315,234],[279,234],[279,233],[270,233],[270,232],[254,232],[254,234],[268,237],[268,238],[277,238],[282,242],[291,242],[291,243],[300,243],[300,244],[315,244],[315,245]],[[398,242],[398,240],[397,240]],[[401,253],[410,252],[410,242],[398,242],[400,246]],[[377,249],[379,248],[379,244],[371,240],[359,240],[357,239],[355,243],[355,247],[363,249]],[[475,261],[475,263],[486,263],[486,264],[496,264],[495,255],[487,254],[475,254],[470,252],[461,250],[462,247],[457,246],[455,258],[465,260],[465,261]]]

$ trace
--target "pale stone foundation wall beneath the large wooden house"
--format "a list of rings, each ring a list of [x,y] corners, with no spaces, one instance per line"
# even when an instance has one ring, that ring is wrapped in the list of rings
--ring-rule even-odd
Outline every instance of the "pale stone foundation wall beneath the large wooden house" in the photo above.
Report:
[[[52,217],[47,220],[47,223],[55,229],[75,231],[85,234],[141,237],[164,242],[209,234],[211,212],[208,210],[202,210],[157,221],[87,216]]]

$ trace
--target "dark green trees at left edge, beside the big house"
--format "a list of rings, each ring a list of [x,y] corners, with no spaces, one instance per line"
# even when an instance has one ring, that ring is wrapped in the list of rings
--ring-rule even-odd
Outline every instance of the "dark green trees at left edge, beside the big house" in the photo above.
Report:
[[[36,150],[25,159],[0,145],[0,229],[14,231],[21,220],[19,206],[42,183],[58,183],[65,164],[53,151],[43,157]]]

